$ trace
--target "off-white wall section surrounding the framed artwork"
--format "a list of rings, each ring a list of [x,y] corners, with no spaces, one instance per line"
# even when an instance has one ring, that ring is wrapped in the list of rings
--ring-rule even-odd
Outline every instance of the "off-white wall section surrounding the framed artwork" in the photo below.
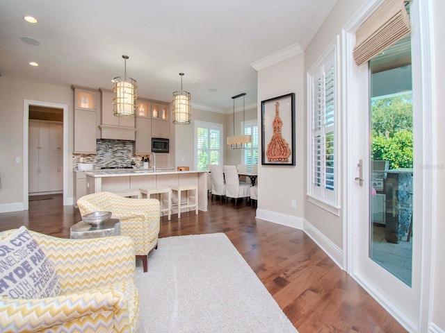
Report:
[[[258,119],[261,119],[261,101],[296,93],[296,166],[258,166],[258,209],[286,214],[296,218],[304,216],[305,201],[305,57],[300,54],[276,65],[258,71]],[[261,121],[259,121],[260,126]],[[259,130],[261,142],[261,130]],[[260,153],[260,152],[259,152]],[[297,207],[291,207],[296,200]]]

